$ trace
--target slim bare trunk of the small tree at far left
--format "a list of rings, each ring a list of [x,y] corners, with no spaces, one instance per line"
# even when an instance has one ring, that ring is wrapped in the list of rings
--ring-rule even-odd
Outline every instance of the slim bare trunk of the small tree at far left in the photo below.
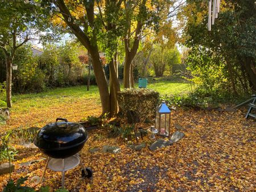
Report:
[[[5,56],[6,59],[6,103],[11,108],[11,78],[12,78],[12,62],[10,55]]]

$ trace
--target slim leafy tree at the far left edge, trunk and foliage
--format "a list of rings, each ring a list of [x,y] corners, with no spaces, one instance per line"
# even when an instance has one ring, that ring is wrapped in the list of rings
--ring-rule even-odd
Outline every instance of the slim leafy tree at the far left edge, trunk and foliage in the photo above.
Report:
[[[0,1],[0,48],[6,61],[6,101],[11,107],[12,66],[16,50],[38,32],[36,6],[24,1]]]

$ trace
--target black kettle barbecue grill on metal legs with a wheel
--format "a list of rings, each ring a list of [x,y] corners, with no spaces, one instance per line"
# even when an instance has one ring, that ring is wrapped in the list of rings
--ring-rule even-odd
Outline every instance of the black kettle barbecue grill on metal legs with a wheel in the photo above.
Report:
[[[58,120],[62,120],[58,122]],[[82,177],[92,177],[92,170],[85,168],[78,152],[84,147],[88,140],[88,133],[85,128],[67,119],[57,118],[55,123],[49,123],[39,130],[35,137],[34,144],[42,153],[48,156],[46,168],[40,182],[43,181],[46,169],[62,172],[62,188],[64,188],[65,171],[82,166]]]

